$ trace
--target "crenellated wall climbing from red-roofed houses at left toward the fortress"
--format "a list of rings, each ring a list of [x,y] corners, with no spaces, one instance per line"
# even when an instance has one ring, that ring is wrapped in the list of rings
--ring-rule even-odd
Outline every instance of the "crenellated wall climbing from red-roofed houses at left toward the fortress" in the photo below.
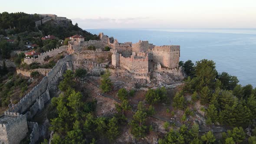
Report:
[[[33,63],[33,62],[45,63],[44,59],[45,59],[47,56],[49,56],[49,57],[56,56],[56,55],[58,55],[59,53],[65,51],[66,49],[67,49],[67,46],[60,46],[59,48],[51,49],[51,50],[49,50],[49,51],[47,51],[47,52],[41,53],[41,54],[38,56],[38,58],[36,58],[36,59],[33,59],[33,58],[27,59],[27,58],[26,58],[26,59],[24,59],[24,62],[25,62],[26,64],[28,64],[28,65],[31,64],[31,63]]]

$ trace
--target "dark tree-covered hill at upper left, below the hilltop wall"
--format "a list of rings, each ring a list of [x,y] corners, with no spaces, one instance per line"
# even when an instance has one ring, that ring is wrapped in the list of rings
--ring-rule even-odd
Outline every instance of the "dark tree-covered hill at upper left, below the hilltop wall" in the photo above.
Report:
[[[41,32],[42,36],[54,35],[59,39],[80,34],[85,40],[98,39],[98,36],[92,35],[79,28],[78,24],[72,24],[67,20],[50,20],[46,23],[36,26],[36,21],[42,20],[39,14],[27,13],[0,13],[0,35],[18,34],[23,32]]]

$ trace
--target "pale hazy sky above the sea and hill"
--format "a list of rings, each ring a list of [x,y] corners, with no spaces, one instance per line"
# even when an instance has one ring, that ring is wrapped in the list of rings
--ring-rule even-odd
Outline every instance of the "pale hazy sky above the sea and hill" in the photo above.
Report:
[[[256,28],[256,0],[1,0],[0,13],[50,13],[89,28]]]

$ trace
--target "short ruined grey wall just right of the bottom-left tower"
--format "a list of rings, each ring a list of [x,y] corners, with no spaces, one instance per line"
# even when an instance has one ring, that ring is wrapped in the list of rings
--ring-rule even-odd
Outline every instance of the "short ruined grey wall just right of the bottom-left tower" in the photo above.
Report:
[[[32,129],[32,132],[30,134],[30,144],[36,144],[36,141],[39,139],[39,126],[37,122],[27,122],[27,125],[30,129]]]

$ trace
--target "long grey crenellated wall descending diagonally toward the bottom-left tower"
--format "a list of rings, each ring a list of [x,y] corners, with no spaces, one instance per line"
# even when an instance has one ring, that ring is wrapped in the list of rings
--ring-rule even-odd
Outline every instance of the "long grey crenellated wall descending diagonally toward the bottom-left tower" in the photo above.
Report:
[[[25,97],[23,97],[16,105],[13,105],[8,111],[26,113],[26,115],[34,114],[43,107],[43,103],[49,101],[49,92],[57,89],[58,82],[62,78],[63,73],[67,69],[66,62],[71,61],[68,55],[60,59],[51,71],[36,85]],[[31,108],[31,109],[30,109]]]

